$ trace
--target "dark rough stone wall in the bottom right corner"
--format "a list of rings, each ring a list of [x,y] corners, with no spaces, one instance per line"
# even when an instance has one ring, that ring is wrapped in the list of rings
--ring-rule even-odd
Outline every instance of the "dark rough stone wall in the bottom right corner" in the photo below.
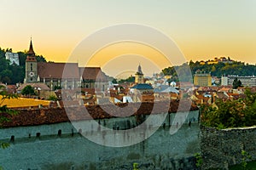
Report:
[[[256,127],[238,127],[218,130],[201,127],[202,169],[224,168],[239,164],[241,150],[256,160]]]

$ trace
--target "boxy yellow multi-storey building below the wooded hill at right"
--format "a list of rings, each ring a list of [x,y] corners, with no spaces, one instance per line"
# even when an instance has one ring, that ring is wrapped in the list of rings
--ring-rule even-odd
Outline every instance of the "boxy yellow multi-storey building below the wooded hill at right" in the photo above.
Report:
[[[195,86],[212,86],[212,77],[210,73],[195,73],[194,76]]]

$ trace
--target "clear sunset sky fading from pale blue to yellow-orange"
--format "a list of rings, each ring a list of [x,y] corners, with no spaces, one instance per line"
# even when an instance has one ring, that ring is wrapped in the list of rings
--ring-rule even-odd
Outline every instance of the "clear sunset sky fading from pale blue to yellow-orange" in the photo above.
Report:
[[[66,62],[79,43],[94,32],[108,26],[133,23],[150,26],[170,37],[188,61],[230,56],[254,65],[255,7],[254,0],[1,0],[0,47],[24,51],[32,37],[36,54],[44,55],[48,61]],[[125,59],[129,54],[125,45],[126,42],[123,48],[119,48],[120,44],[115,48],[105,47],[123,50],[121,53],[110,53],[110,49],[104,49],[108,52],[105,54],[104,50],[96,53],[109,61],[113,61],[109,54],[119,54]],[[138,48],[132,52],[141,57],[131,57],[134,62],[131,70],[136,70],[140,63],[148,74],[157,71],[147,64],[150,54],[140,51]],[[102,63],[101,57],[94,60],[96,62],[91,65],[103,67],[108,64]],[[123,65],[120,59],[115,60],[115,65]],[[165,63],[164,59],[155,60]],[[155,60],[151,61],[154,65]],[[169,63],[158,65],[158,69],[167,65]]]

